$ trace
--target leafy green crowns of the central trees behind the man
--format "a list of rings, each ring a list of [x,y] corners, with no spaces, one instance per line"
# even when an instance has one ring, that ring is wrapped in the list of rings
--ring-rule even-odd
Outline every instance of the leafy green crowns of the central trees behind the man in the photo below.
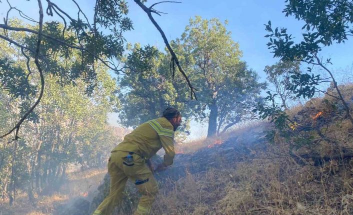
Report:
[[[144,64],[150,66],[143,73],[122,77],[119,82],[119,98],[123,104],[120,120],[124,126],[134,127],[158,117],[167,106],[178,108],[186,122],[190,116],[204,121],[207,109],[217,112],[215,119],[209,120],[209,125],[213,126],[211,135],[249,116],[245,105],[254,103],[265,84],[258,83],[258,75],[240,61],[239,45],[218,19],[205,20],[199,16],[190,19],[181,38],[171,41],[170,45],[198,90],[198,101],[187,99],[188,91],[181,76],[177,74],[173,79],[170,56],[145,47],[153,53],[144,54],[153,56],[149,61],[143,59]],[[135,45],[132,52],[138,53],[139,49],[139,45]],[[125,62],[130,70],[138,65],[134,58],[141,62],[138,55],[127,57]]]

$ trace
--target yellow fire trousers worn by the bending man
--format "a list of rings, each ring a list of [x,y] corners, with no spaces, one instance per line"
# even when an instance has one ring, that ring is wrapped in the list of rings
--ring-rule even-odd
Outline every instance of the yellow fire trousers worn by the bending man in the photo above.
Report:
[[[127,179],[134,182],[142,195],[134,215],[148,215],[154,197],[158,193],[158,187],[145,160],[134,153],[112,152],[108,162],[108,173],[110,175],[109,195],[100,203],[93,215],[112,215],[114,208],[122,199]]]

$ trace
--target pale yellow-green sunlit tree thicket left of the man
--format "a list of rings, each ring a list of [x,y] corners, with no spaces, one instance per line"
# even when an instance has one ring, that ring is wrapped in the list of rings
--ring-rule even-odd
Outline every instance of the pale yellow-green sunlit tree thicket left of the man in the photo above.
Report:
[[[106,114],[116,103],[116,99],[111,100],[114,90],[109,88],[115,82],[104,72],[97,72],[98,83],[104,86],[92,97],[84,95],[82,86],[62,87],[57,78],[46,76],[47,88],[37,106],[39,121],[25,122],[23,138],[14,145],[3,145],[1,150],[1,184],[8,185],[3,188],[7,196],[14,197],[16,190],[22,190],[35,203],[33,193],[49,194],[60,187],[68,164],[96,167],[106,160],[107,148],[117,139],[106,123]],[[16,104],[18,101],[10,101],[11,109]]]

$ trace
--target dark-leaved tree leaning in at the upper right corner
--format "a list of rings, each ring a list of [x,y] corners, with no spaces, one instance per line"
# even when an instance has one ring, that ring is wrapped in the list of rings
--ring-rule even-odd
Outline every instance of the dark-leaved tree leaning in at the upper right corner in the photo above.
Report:
[[[327,65],[332,64],[330,59],[323,60],[319,57],[319,52],[325,46],[332,45],[333,42],[341,43],[353,35],[353,19],[351,11],[353,1],[351,0],[286,0],[288,4],[283,12],[286,16],[294,15],[296,19],[303,20],[305,24],[302,29],[303,40],[294,43],[291,34],[286,28],[276,27],[274,30],[271,22],[265,24],[269,34],[267,46],[274,53],[274,57],[279,57],[283,61],[300,61],[306,63],[307,73],[295,72],[291,77],[290,90],[296,97],[311,98],[316,92],[322,92],[339,100],[344,107],[347,118],[353,125],[353,117],[345,98],[342,96],[332,71]],[[318,67],[328,74],[328,78],[321,78],[319,74],[314,74],[313,68]],[[310,74],[311,73],[311,74]],[[335,93],[322,91],[318,85],[322,82],[331,81]]]

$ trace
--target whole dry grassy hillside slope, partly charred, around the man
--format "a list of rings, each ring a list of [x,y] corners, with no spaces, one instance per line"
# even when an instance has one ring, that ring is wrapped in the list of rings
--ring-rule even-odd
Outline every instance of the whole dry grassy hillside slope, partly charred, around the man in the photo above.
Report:
[[[352,107],[353,87],[341,89]],[[324,96],[287,114],[296,123],[277,131],[272,141],[265,135],[274,128],[260,122],[197,147],[177,146],[184,153],[155,174],[160,192],[152,214],[353,214],[353,128],[342,105]],[[106,175],[96,192],[79,200],[89,211],[73,204],[63,214],[92,212],[107,195],[108,181]],[[128,184],[116,214],[131,214],[137,199]]]

